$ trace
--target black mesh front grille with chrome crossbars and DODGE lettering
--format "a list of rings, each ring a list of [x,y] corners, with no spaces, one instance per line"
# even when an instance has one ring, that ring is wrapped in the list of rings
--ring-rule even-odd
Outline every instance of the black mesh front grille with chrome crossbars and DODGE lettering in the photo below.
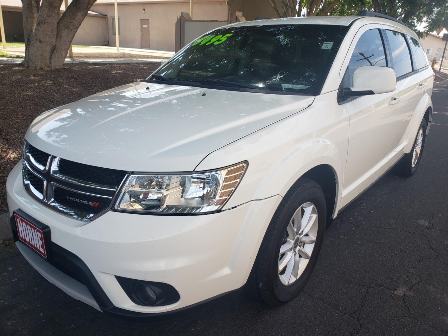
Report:
[[[122,170],[54,157],[27,142],[22,172],[28,194],[47,207],[80,220],[92,220],[107,211],[127,175]]]

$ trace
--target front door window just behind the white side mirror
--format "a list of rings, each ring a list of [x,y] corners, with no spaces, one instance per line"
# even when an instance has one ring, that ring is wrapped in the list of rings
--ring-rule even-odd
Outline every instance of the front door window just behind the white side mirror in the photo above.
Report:
[[[364,32],[356,43],[349,62],[350,84],[353,84],[353,73],[361,66],[387,66],[383,39],[378,29]]]

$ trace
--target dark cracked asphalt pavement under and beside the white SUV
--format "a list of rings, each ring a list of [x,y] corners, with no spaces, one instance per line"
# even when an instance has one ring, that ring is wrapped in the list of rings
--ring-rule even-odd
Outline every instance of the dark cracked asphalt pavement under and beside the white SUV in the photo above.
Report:
[[[310,281],[288,304],[242,295],[177,318],[122,321],[67,296],[16,248],[0,246],[0,334],[447,335],[448,86],[434,90],[433,102],[418,172],[392,170],[340,213]]]

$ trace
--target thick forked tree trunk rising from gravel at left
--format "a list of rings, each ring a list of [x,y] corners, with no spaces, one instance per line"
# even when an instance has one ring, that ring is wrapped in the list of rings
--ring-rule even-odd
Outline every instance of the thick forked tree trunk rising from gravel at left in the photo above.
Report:
[[[24,65],[58,69],[64,64],[75,34],[95,0],[73,0],[60,16],[63,0],[22,0],[25,34]]]

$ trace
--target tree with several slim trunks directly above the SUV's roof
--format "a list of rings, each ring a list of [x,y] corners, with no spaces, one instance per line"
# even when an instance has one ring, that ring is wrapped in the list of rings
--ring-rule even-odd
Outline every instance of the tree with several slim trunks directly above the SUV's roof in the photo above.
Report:
[[[306,9],[306,16],[328,15],[340,0],[280,0],[282,12],[280,13],[276,0],[269,0],[276,17],[296,17],[302,15]]]

